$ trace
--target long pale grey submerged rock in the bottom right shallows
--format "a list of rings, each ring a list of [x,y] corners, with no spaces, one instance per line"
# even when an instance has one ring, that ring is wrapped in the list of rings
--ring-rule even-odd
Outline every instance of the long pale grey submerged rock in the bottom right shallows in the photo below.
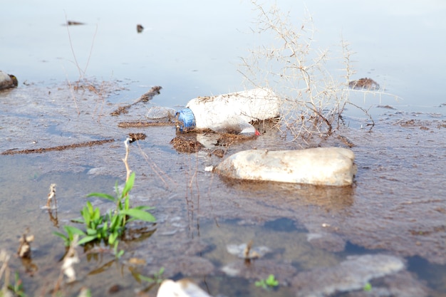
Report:
[[[387,276],[404,269],[401,259],[388,255],[351,256],[333,267],[298,273],[291,286],[298,297],[323,297],[336,292],[361,290],[373,278]]]

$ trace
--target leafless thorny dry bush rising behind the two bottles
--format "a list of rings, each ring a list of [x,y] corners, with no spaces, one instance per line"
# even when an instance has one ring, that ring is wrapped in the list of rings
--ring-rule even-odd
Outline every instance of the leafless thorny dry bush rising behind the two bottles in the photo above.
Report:
[[[281,98],[281,120],[278,127],[290,132],[294,140],[317,135],[330,135],[341,123],[348,104],[348,82],[352,51],[341,41],[339,56],[315,48],[315,28],[308,14],[296,27],[291,16],[276,6],[265,10],[252,2],[259,12],[254,33],[263,40],[274,38],[269,46],[260,46],[242,58],[239,72],[246,85],[270,88]],[[328,71],[327,64],[331,69]],[[365,110],[364,110],[365,111]],[[366,112],[366,111],[365,111]]]

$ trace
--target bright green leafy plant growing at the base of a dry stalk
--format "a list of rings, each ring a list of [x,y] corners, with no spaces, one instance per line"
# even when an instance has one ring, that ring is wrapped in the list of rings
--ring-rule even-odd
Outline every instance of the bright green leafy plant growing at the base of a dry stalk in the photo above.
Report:
[[[74,226],[64,226],[67,235],[59,232],[54,232],[57,236],[60,236],[65,245],[69,246],[73,240],[73,235],[78,234],[81,236],[78,244],[87,244],[91,241],[104,241],[105,244],[113,246],[115,255],[120,257],[123,251],[118,252],[118,242],[125,231],[125,226],[128,222],[135,220],[142,220],[145,222],[155,222],[156,219],[147,210],[153,209],[153,207],[130,207],[129,192],[133,189],[135,182],[135,173],[130,174],[123,192],[118,189],[118,182],[115,184],[116,197],[105,193],[90,193],[87,197],[99,197],[108,199],[116,204],[116,208],[108,214],[100,214],[98,207],[93,207],[91,202],[87,202],[85,207],[81,210],[81,219],[76,219],[74,222],[85,225],[85,231],[78,229]]]

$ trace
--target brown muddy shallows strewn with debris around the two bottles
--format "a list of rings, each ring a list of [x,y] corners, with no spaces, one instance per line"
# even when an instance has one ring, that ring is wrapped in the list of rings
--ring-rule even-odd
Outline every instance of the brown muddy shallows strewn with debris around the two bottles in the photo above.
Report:
[[[380,296],[414,296],[408,295],[409,288],[419,292],[417,296],[444,296],[446,288],[432,283],[431,288],[426,288],[422,276],[410,271],[407,264],[407,259],[420,257],[427,265],[437,267],[436,281],[446,276],[444,116],[413,115],[385,108],[375,118],[372,130],[361,128],[368,123],[368,118],[348,118],[352,125],[341,127],[332,137],[314,135],[306,141],[291,141],[291,137],[279,130],[264,127],[260,130],[261,136],[240,140],[209,132],[185,135],[169,125],[138,126],[138,131],[131,130],[133,127],[119,123],[147,121],[144,115],[150,101],[133,105],[129,113],[116,117],[110,113],[117,105],[106,99],[115,92],[115,88],[103,89],[98,96],[88,88],[73,92],[68,85],[54,88],[30,85],[0,93],[1,181],[9,184],[4,187],[9,195],[23,195],[22,203],[33,214],[15,222],[11,214],[6,219],[7,214],[3,212],[1,236],[7,239],[6,245],[16,246],[12,234],[19,230],[16,236],[20,236],[26,226],[31,226],[36,238],[45,236],[44,230],[54,228],[51,225],[34,230],[35,217],[40,224],[50,223],[36,207],[36,197],[29,194],[34,190],[26,189],[31,185],[14,184],[14,175],[6,174],[20,174],[17,166],[21,165],[16,165],[19,159],[14,158],[26,157],[28,174],[38,172],[41,180],[67,172],[85,175],[87,179],[107,177],[110,184],[101,187],[111,192],[115,179],[122,182],[125,178],[123,141],[129,133],[135,133],[146,137],[134,137],[135,142],[130,145],[129,165],[137,176],[132,199],[135,204],[156,207],[153,214],[158,223],[148,238],[125,243],[129,253],[123,263],[129,257],[143,259],[147,265],[138,266],[140,271],[156,273],[163,266],[165,277],[188,276],[199,281],[207,276],[214,296],[223,292],[227,296],[231,292],[232,296],[262,296],[265,293],[256,291],[252,282],[267,273],[274,273],[285,285],[277,292],[282,296],[299,296],[299,283],[308,283],[306,292],[318,296],[326,293],[311,291],[311,283],[322,282],[328,286],[332,279],[327,274],[321,281],[318,268],[331,267],[330,271],[336,275],[336,271],[341,271],[337,269],[354,266],[346,262],[347,246],[354,245],[377,254],[379,259],[383,259],[380,254],[385,254],[393,257],[395,263],[403,263],[398,271],[372,277],[373,272],[360,279],[358,283],[367,279],[374,282],[373,286],[382,288]],[[43,150],[26,156],[4,154],[43,147],[71,148],[73,144],[102,140],[110,141],[73,150]],[[222,156],[240,150],[317,146],[350,147],[355,152],[358,173],[352,187],[234,181],[205,170],[218,165]],[[63,188],[69,182],[59,183],[62,187],[58,193],[67,195],[63,194]],[[32,187],[41,188],[39,191],[45,193],[48,185],[37,182]],[[88,194],[85,187],[77,187],[77,195]],[[45,198],[46,193],[41,196]],[[7,209],[11,201],[1,202],[1,208]],[[93,202],[102,209],[110,207],[102,201]],[[76,217],[81,205],[82,201],[62,202],[59,219],[67,222]],[[269,228],[271,222],[279,219],[290,222],[291,231]],[[51,231],[47,233],[53,240]],[[228,244],[248,244],[251,240],[254,246],[266,246],[271,252],[252,261],[251,266],[228,253]],[[33,244],[37,246],[41,242],[39,239]],[[41,251],[40,256],[43,254],[60,256],[54,247]],[[35,257],[38,256],[37,253]],[[355,269],[358,273],[363,271],[361,267]],[[235,292],[234,288],[225,286],[225,281],[217,281],[222,278],[226,282],[236,278],[247,282],[241,283],[238,287],[241,291]],[[112,288],[117,283],[121,291],[131,290],[114,276],[105,281],[105,287]],[[346,295],[342,296],[365,296],[361,295],[361,289],[358,291],[358,283],[346,285],[348,289],[343,291]],[[404,291],[398,286],[401,283],[411,285]],[[88,278],[85,284],[88,285]],[[251,293],[244,292],[243,286]]]

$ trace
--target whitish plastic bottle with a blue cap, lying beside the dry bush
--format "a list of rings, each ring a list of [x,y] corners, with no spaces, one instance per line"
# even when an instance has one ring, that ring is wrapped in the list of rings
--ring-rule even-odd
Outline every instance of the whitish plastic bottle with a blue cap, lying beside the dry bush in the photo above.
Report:
[[[180,131],[197,128],[258,135],[250,122],[276,118],[279,116],[279,103],[279,98],[264,88],[198,97],[177,112],[177,127]]]

